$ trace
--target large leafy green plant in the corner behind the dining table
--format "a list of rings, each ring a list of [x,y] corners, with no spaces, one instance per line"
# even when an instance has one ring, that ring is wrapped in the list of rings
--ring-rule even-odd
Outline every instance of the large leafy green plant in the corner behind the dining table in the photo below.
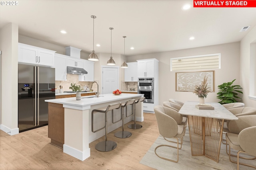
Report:
[[[243,93],[243,92],[241,92],[240,90],[236,90],[236,89],[241,89],[241,86],[239,85],[231,86],[235,80],[233,80],[232,82],[223,83],[218,86],[219,92],[217,94],[219,96],[217,96],[217,98],[221,100],[219,102],[220,104],[238,102],[236,101],[235,98],[241,99],[237,95],[238,93]]]

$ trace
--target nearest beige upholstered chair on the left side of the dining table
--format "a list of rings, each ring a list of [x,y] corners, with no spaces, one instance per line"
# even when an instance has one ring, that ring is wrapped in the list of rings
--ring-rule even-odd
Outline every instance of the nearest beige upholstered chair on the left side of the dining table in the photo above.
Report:
[[[182,119],[180,118],[180,115],[176,114],[175,112],[172,111],[172,109],[170,109],[168,107],[155,106],[154,107],[154,112],[155,112],[155,115],[156,115],[156,120],[157,120],[158,130],[159,130],[160,135],[162,135],[166,141],[169,141],[166,138],[174,138],[174,139],[177,140],[177,142],[169,141],[169,142],[172,142],[172,143],[176,143],[177,147],[174,147],[174,146],[171,146],[171,145],[159,145],[155,148],[155,154],[159,158],[169,160],[169,161],[172,161],[172,162],[178,162],[178,160],[179,160],[179,149],[181,149],[181,147],[182,147],[183,136],[185,135],[185,127],[183,125],[180,125]],[[181,140],[180,143],[179,143],[178,139]],[[180,148],[179,148],[179,144],[180,144]],[[156,150],[159,147],[176,148],[177,149],[177,160],[164,158],[164,157],[158,155]]]

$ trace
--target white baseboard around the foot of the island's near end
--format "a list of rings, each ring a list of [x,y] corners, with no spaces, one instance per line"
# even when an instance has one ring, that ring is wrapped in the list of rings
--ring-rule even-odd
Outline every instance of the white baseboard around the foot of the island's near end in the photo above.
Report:
[[[63,145],[63,152],[66,154],[69,154],[70,156],[73,156],[79,160],[85,160],[86,158],[90,157],[90,148],[80,151],[77,149],[74,149],[72,147],[69,147],[68,145]]]

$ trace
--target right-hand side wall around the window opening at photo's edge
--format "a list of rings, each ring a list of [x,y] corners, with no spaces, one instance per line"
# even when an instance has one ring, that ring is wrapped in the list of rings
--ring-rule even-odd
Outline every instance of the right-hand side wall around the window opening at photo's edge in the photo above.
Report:
[[[246,104],[246,106],[252,106],[252,107],[256,107],[256,100],[252,100],[249,99],[248,96],[250,95],[250,76],[251,76],[251,72],[250,70],[254,70],[254,74],[255,74],[255,69],[251,69],[250,67],[255,68],[256,63],[254,64],[250,64],[251,62],[253,62],[251,57],[254,57],[254,61],[255,60],[255,55],[251,56],[250,54],[250,47],[252,43],[255,43],[256,41],[256,27],[252,28],[252,30],[247,33],[247,35],[242,39],[241,43],[240,43],[240,67],[242,68],[240,70],[240,83],[241,86],[244,88],[244,102]],[[255,81],[254,80],[254,85],[255,85]],[[256,94],[254,94],[254,96],[256,97]]]

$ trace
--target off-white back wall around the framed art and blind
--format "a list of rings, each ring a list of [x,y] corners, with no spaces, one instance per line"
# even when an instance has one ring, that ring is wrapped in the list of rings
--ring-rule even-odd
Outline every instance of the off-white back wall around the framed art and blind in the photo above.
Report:
[[[212,45],[193,49],[168,51],[161,53],[136,55],[127,57],[128,62],[138,59],[156,58],[159,60],[159,104],[169,98],[185,101],[199,101],[198,97],[192,92],[175,91],[175,72],[170,71],[170,59],[176,57],[188,57],[196,55],[207,55],[221,53],[221,69],[215,70],[215,92],[208,94],[206,102],[219,102],[216,98],[217,86],[224,82],[231,82],[236,79],[234,84],[240,85],[240,43],[228,43]]]

